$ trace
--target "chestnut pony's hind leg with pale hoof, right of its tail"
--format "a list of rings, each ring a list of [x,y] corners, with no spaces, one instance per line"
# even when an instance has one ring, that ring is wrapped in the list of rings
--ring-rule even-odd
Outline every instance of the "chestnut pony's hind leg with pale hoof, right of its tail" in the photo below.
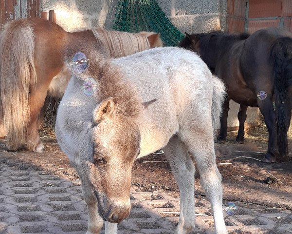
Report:
[[[48,87],[37,86],[30,92],[30,122],[27,128],[27,149],[37,153],[42,153],[45,149],[38,135],[37,118],[47,96]]]

